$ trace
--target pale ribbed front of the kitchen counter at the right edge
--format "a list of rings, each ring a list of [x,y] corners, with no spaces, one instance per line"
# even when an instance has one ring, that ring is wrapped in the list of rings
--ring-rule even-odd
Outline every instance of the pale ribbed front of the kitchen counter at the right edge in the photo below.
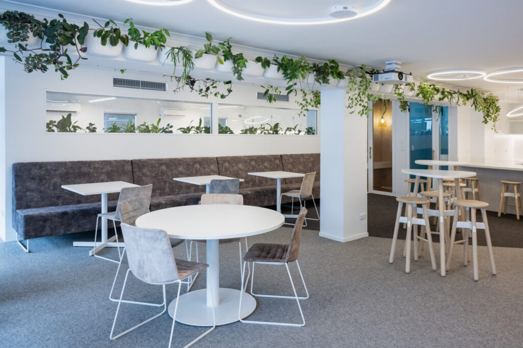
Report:
[[[476,177],[480,178],[481,200],[488,203],[487,210],[496,212],[498,211],[499,198],[501,197],[501,181],[523,181],[523,171],[511,171],[504,169],[479,168],[469,166],[459,166],[459,170],[476,172]],[[509,189],[510,192],[513,192],[513,185],[509,185]],[[469,195],[469,197],[471,196]],[[513,198],[505,197],[505,199],[508,199],[508,204],[514,205]],[[516,209],[514,207],[507,207],[507,214],[515,213]]]

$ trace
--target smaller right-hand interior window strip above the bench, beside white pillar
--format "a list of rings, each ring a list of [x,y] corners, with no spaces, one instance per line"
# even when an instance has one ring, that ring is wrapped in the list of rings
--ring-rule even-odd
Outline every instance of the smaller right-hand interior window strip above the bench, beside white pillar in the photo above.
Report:
[[[220,134],[287,134],[315,135],[317,111],[304,116],[296,109],[283,107],[219,104],[218,133]]]

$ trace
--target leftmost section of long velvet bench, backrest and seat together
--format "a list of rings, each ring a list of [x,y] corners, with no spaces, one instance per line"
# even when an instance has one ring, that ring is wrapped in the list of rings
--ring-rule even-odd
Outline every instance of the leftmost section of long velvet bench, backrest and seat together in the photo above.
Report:
[[[13,227],[21,239],[93,230],[100,196],[61,186],[132,180],[129,160],[14,163]],[[108,209],[116,209],[118,194],[108,196]]]

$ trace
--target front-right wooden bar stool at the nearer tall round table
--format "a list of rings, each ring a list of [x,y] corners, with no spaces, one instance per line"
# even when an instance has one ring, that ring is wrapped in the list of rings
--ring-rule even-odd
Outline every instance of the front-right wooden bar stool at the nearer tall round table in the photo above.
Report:
[[[450,268],[450,262],[452,259],[452,248],[454,246],[454,239],[456,238],[456,229],[461,228],[464,231],[463,241],[456,242],[463,243],[463,265],[467,266],[468,263],[468,246],[469,246],[469,230],[472,231],[472,262],[474,265],[474,280],[479,279],[477,271],[477,229],[485,230],[485,239],[487,241],[488,256],[490,257],[492,274],[496,274],[496,265],[494,264],[494,254],[492,251],[492,242],[490,238],[490,231],[488,230],[487,222],[487,213],[486,208],[488,203],[482,202],[479,200],[471,199],[457,199],[454,200],[454,205],[456,207],[464,207],[467,210],[470,210],[470,220],[467,221],[458,221],[459,209],[456,209],[454,213],[454,221],[452,222],[452,232],[450,235],[450,245],[447,256],[447,271]],[[481,217],[483,222],[476,222],[476,209],[481,210]]]

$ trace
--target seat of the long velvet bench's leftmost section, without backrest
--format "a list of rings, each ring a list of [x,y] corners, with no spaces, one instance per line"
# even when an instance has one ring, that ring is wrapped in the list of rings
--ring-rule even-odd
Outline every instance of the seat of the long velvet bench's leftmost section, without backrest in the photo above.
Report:
[[[108,202],[108,209],[116,210],[116,203]],[[21,239],[94,231],[100,211],[101,203],[18,209],[15,230]]]

